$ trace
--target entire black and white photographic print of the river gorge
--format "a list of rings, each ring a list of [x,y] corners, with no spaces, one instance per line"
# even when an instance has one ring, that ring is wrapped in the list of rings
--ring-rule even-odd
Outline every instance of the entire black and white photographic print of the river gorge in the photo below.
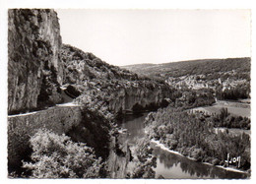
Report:
[[[251,9],[6,14],[8,180],[252,178]]]

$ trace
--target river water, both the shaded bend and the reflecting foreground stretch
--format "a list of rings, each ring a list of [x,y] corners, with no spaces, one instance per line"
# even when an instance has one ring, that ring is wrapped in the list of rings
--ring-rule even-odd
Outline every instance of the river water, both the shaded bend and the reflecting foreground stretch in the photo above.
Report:
[[[132,147],[136,141],[145,136],[144,119],[148,113],[141,115],[126,115],[119,126],[128,130],[125,142]],[[156,144],[152,144],[154,155],[157,157],[156,178],[160,175],[165,179],[196,179],[196,178],[219,178],[238,179],[246,178],[246,174],[234,172],[224,168],[196,162],[188,157],[170,153],[160,149]]]

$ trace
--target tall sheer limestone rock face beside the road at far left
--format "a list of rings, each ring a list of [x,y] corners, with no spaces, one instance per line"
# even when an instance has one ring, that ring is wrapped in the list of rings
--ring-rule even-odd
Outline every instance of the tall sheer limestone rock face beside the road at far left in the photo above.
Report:
[[[12,9],[8,16],[8,112],[60,102],[63,68],[57,14]]]

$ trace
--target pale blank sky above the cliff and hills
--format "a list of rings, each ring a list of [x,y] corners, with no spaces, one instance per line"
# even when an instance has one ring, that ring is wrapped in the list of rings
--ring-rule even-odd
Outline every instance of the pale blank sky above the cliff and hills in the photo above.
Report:
[[[56,10],[64,43],[113,65],[250,57],[248,10]]]

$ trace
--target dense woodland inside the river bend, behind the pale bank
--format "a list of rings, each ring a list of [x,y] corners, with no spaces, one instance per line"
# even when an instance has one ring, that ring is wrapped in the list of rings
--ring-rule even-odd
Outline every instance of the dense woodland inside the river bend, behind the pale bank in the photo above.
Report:
[[[149,138],[159,140],[170,150],[215,165],[224,165],[230,153],[242,157],[240,168],[250,168],[250,137],[246,134],[216,133],[214,124],[200,115],[170,106],[150,113],[145,124]]]

